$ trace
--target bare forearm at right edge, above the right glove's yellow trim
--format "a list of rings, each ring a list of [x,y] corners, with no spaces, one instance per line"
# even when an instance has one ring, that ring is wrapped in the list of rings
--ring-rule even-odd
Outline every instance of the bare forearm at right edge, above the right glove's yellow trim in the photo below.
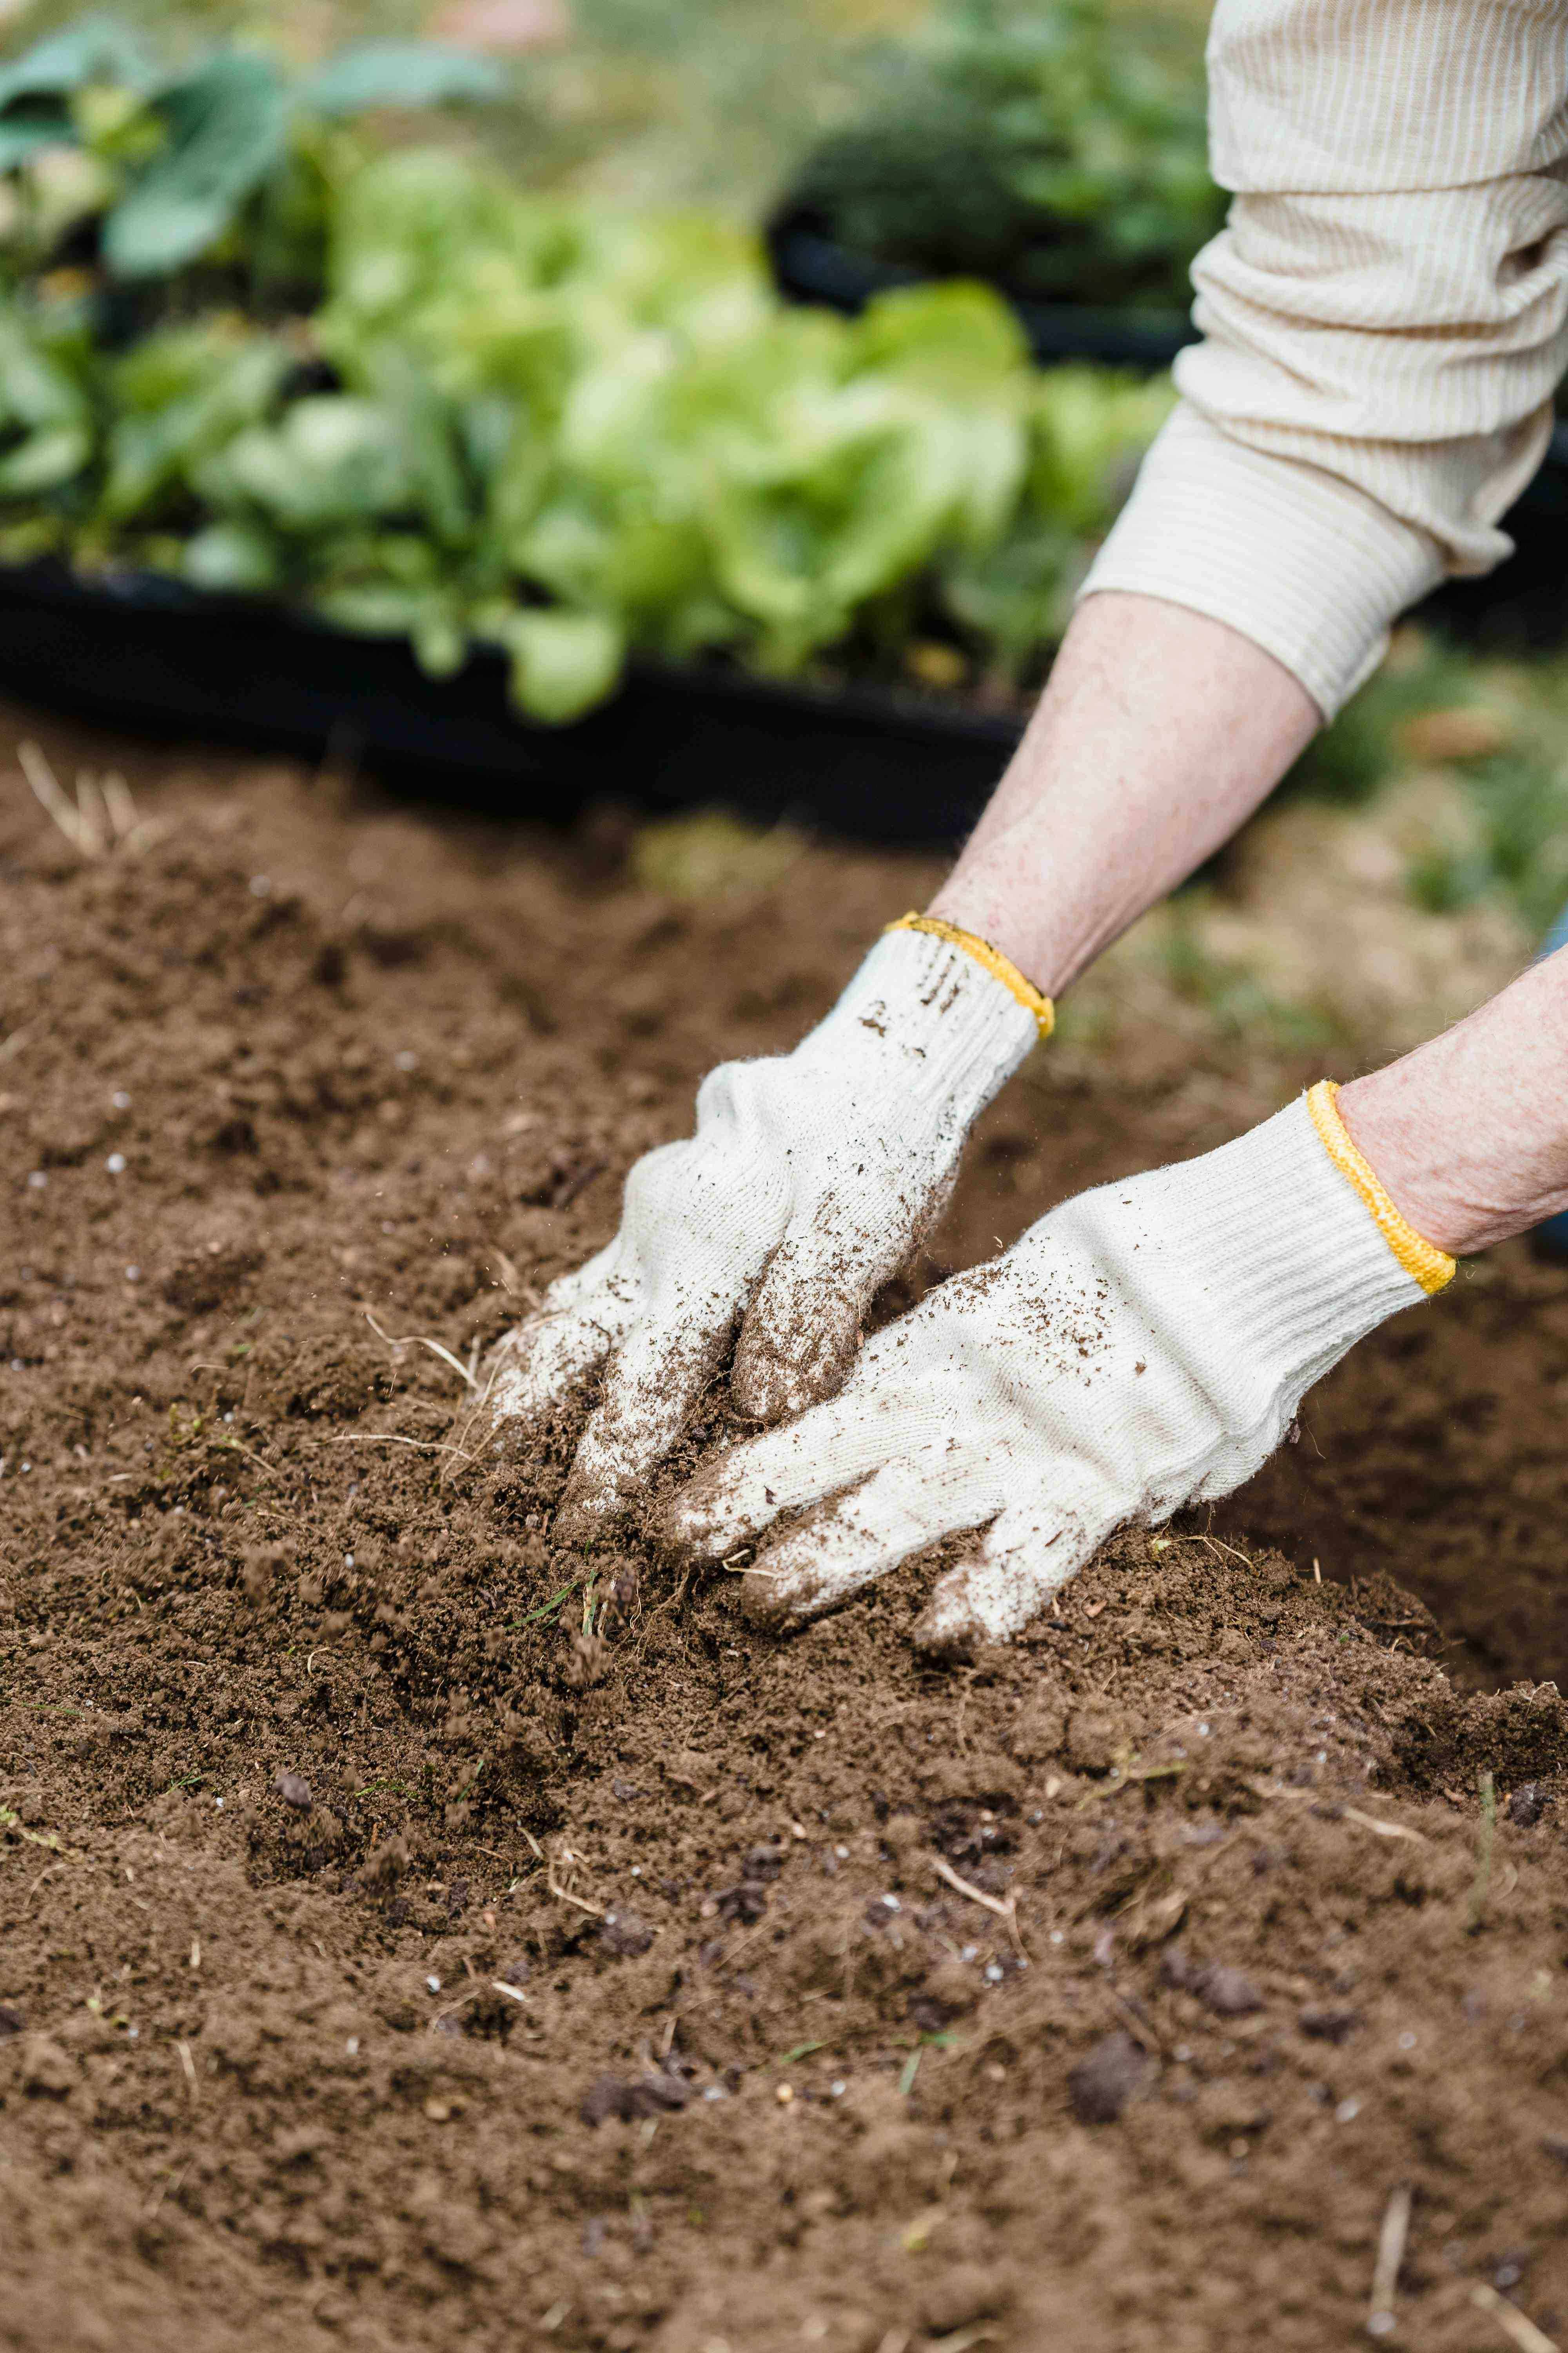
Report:
[[[1453,1257],[1568,1209],[1568,948],[1340,1094],[1356,1146]]]

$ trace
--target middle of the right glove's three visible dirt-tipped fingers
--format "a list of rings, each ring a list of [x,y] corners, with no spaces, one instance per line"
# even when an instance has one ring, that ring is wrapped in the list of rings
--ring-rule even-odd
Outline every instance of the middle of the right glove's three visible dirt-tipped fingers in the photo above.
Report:
[[[966,1520],[957,1492],[945,1504],[919,1471],[893,1464],[769,1544],[745,1572],[741,1605],[764,1626],[818,1617]]]

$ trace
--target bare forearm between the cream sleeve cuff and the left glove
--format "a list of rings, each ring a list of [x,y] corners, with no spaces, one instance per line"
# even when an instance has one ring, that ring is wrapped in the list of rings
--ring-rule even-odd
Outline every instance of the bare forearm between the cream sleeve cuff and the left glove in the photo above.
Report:
[[[1060,995],[1267,800],[1319,718],[1222,621],[1159,598],[1086,598],[931,911]]]

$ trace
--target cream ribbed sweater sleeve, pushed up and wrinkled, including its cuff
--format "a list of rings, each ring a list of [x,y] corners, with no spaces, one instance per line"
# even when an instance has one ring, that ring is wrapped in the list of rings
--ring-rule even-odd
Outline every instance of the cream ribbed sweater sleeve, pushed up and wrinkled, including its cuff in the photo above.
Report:
[[[1204,341],[1084,595],[1253,638],[1333,718],[1512,553],[1568,367],[1568,0],[1220,0]]]

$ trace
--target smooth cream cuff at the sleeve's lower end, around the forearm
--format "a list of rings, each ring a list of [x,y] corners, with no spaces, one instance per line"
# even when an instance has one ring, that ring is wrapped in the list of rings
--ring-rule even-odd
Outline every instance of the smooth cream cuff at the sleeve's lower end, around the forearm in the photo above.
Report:
[[[1382,661],[1389,624],[1441,576],[1436,541],[1366,492],[1248,449],[1182,402],[1079,595],[1119,588],[1225,621],[1331,720]]]

